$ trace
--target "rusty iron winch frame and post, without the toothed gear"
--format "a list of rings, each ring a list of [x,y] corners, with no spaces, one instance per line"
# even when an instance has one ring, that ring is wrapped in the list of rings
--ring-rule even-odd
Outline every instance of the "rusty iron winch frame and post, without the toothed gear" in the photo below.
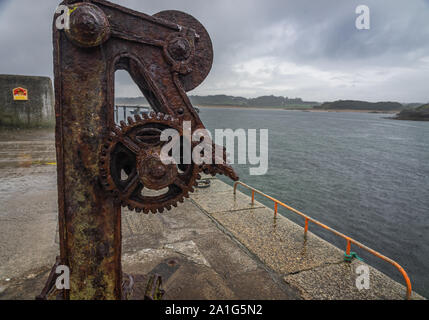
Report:
[[[210,72],[213,49],[207,31],[186,13],[148,16],[102,0],[77,2],[63,3],[71,9],[70,29],[56,29],[57,14],[53,30],[60,251],[71,271],[64,298],[121,299],[121,203],[100,178],[104,146],[118,130],[115,71],[128,71],[156,112],[191,121],[197,130],[204,125],[186,91]],[[152,170],[152,178],[162,170]],[[192,179],[199,171],[238,179],[228,165],[194,166]],[[171,207],[169,200],[140,205],[161,211]]]

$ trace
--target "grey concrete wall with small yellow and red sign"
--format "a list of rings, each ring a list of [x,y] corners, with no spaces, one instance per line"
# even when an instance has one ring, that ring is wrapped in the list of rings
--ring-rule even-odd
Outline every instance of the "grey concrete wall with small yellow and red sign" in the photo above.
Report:
[[[14,100],[15,88],[28,100]],[[0,75],[0,127],[36,128],[55,124],[54,93],[48,77]]]

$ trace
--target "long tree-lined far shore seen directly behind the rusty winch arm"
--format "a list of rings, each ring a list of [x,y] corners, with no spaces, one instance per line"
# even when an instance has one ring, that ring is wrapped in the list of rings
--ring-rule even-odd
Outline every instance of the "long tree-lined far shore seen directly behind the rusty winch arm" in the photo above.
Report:
[[[190,96],[192,104],[195,106],[242,106],[242,107],[312,107],[319,105],[315,101],[303,101],[301,98],[288,98],[281,96],[262,96],[257,98],[244,98],[228,95],[211,95],[211,96]],[[117,104],[125,105],[147,105],[148,102],[144,97],[137,98],[117,98]]]

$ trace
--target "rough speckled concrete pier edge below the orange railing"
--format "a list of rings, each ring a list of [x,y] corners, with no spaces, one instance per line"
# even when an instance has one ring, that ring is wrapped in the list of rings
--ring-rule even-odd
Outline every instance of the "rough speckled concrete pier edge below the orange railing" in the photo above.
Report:
[[[204,177],[207,178],[207,177]],[[304,228],[292,222],[288,218],[277,215],[274,218],[274,210],[266,207],[262,203],[255,201],[254,205],[251,205],[251,197],[247,196],[243,192],[237,190],[237,197],[241,198],[241,201],[246,204],[241,206],[236,206],[231,209],[222,208],[225,206],[225,203],[220,201],[221,199],[227,199],[234,197],[233,188],[227,183],[217,179],[211,178],[212,186],[210,190],[197,191],[191,195],[191,200],[196,204],[196,206],[212,219],[216,226],[222,230],[226,235],[233,239],[240,247],[243,248],[251,257],[257,260],[259,263],[264,265],[265,270],[269,272],[275,281],[283,282],[297,289],[303,299],[316,299],[316,300],[402,300],[406,297],[406,287],[395,280],[391,279],[389,276],[385,275],[381,271],[375,269],[374,267],[367,265],[365,262],[359,260],[353,260],[351,263],[345,262],[343,259],[344,251],[330,244],[329,242],[318,237],[311,231],[308,231],[307,243],[304,244]],[[210,201],[218,201],[219,206],[211,207],[207,205],[207,199],[201,197],[201,194],[210,192]],[[238,201],[235,199],[234,201]],[[255,214],[258,213],[259,214]],[[249,214],[253,215],[249,217]],[[247,217],[246,217],[247,215]],[[247,219],[252,221],[247,226],[240,226],[240,221]],[[268,235],[266,230],[258,228],[260,223],[264,223],[265,227],[269,227],[270,224],[273,224],[273,220],[277,221],[278,225],[284,224],[287,226],[288,232],[283,232],[276,234]],[[255,233],[251,233],[252,237],[249,237],[246,232],[249,229],[259,230],[256,234],[258,237],[255,237]],[[246,230],[247,229],[247,230]],[[284,230],[286,231],[286,230]],[[263,235],[265,233],[265,236]],[[290,234],[292,233],[292,235]],[[277,237],[278,236],[278,237]],[[293,250],[287,251],[289,256],[297,255],[300,256],[297,258],[296,263],[284,267],[282,266],[282,253],[277,254],[276,246],[265,247],[265,250],[261,250],[258,241],[256,239],[264,238],[269,239],[273,237],[270,242],[274,243],[274,240],[287,239],[292,237],[290,242],[293,243],[292,246],[287,246],[283,249],[294,248],[297,244],[301,244],[303,247],[308,245],[307,249],[309,250],[304,256],[300,256],[299,251],[293,252]],[[287,242],[286,240],[285,242]],[[310,253],[311,250],[314,250],[316,247],[324,250],[324,254],[318,255],[320,261],[311,261],[314,259]],[[280,250],[282,251],[282,250]],[[317,251],[317,250],[316,250]],[[268,257],[272,255],[272,257]],[[278,258],[279,264],[274,263]],[[308,260],[308,261],[305,261]],[[285,261],[283,260],[285,263]],[[293,261],[292,261],[293,262]],[[304,262],[304,263],[303,263]],[[309,263],[308,265],[306,265]],[[285,263],[287,264],[287,263]],[[301,265],[300,265],[301,264]],[[354,274],[356,268],[360,265],[368,266],[370,270],[370,286],[369,290],[359,290],[357,289],[355,280],[357,274]],[[349,270],[347,270],[349,269]],[[424,297],[412,292],[412,300],[425,300]]]

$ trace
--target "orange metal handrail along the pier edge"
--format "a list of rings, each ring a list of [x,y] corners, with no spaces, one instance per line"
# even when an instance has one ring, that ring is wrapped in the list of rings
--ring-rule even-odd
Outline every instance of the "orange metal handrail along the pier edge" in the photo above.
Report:
[[[307,231],[308,231],[308,223],[312,222],[312,223],[314,223],[314,224],[316,224],[316,225],[318,225],[318,226],[320,226],[320,227],[322,227],[322,228],[324,228],[324,229],[332,232],[333,234],[335,234],[335,235],[337,235],[337,236],[345,239],[347,241],[347,247],[346,247],[346,254],[347,255],[350,255],[351,245],[355,244],[359,248],[368,251],[369,253],[371,253],[372,255],[376,256],[377,258],[380,258],[380,259],[382,259],[382,260],[390,263],[396,269],[398,269],[399,272],[404,277],[405,282],[407,284],[407,299],[409,300],[411,298],[412,288],[411,288],[410,278],[408,277],[408,275],[405,272],[404,268],[402,268],[399,265],[399,263],[397,263],[396,261],[394,261],[394,260],[392,260],[392,259],[390,259],[390,258],[388,258],[388,257],[386,257],[384,255],[382,255],[381,253],[379,253],[379,252],[377,252],[377,251],[375,251],[375,250],[373,250],[373,249],[371,249],[371,248],[369,248],[367,246],[365,246],[364,244],[360,243],[359,241],[356,241],[356,240],[354,240],[354,239],[346,236],[345,234],[343,234],[343,233],[341,233],[341,232],[339,232],[339,231],[337,231],[335,229],[332,229],[332,228],[328,227],[327,225],[325,225],[325,224],[323,224],[323,223],[321,223],[321,222],[319,222],[319,221],[317,221],[317,220],[315,220],[315,219],[307,216],[306,214],[302,213],[301,211],[296,210],[296,209],[292,208],[291,206],[288,206],[287,204],[285,204],[285,203],[283,203],[283,202],[281,202],[281,201],[279,201],[279,200],[277,200],[277,199],[275,199],[275,198],[273,198],[273,197],[271,197],[271,196],[269,196],[269,195],[267,195],[267,194],[265,194],[265,193],[263,193],[263,192],[255,189],[255,188],[252,188],[251,186],[249,186],[249,185],[247,185],[247,184],[245,184],[245,183],[243,183],[241,181],[237,181],[237,182],[234,183],[234,195],[237,193],[237,187],[238,187],[238,185],[241,185],[241,186],[243,186],[243,187],[245,187],[245,188],[247,188],[247,189],[249,189],[249,190],[252,191],[252,204],[255,203],[255,193],[257,193],[257,194],[259,194],[261,196],[264,196],[265,198],[273,201],[274,202],[274,215],[275,216],[277,216],[278,205],[281,205],[282,207],[285,207],[289,211],[292,211],[292,212],[300,215],[301,217],[303,217],[305,219],[305,227],[304,227],[304,235],[305,236],[307,235]]]

